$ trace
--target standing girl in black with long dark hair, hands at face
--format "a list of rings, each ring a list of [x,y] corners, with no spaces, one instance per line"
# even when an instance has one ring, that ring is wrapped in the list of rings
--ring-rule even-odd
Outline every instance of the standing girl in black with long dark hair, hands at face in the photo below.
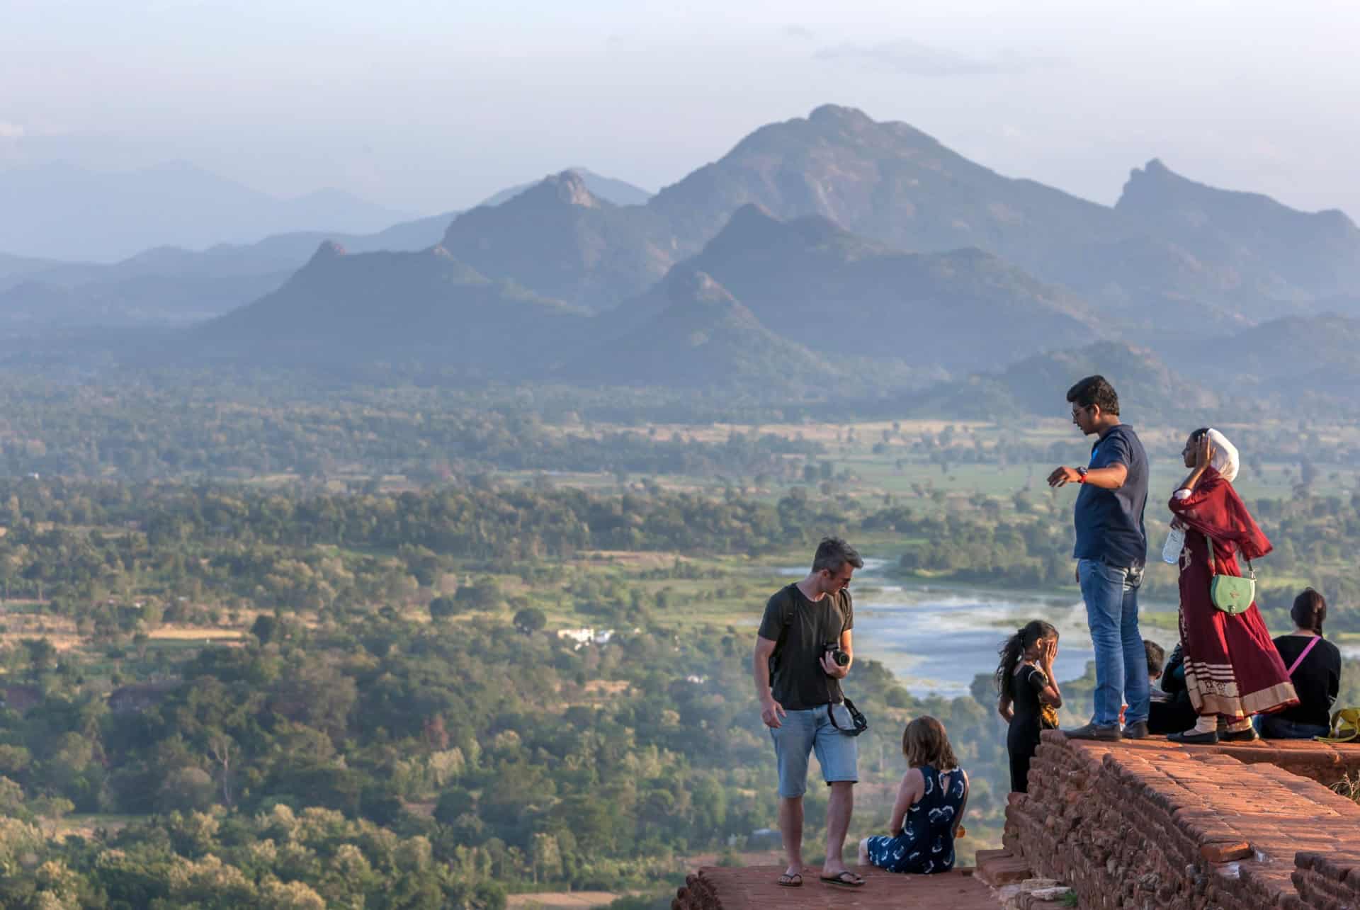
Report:
[[[1010,729],[1006,751],[1010,754],[1010,790],[1030,792],[1030,759],[1039,748],[1039,730],[1057,728],[1062,692],[1053,677],[1053,658],[1058,656],[1058,630],[1035,619],[1016,631],[1001,646],[997,667],[997,710]],[[1049,709],[1050,720],[1044,718]]]

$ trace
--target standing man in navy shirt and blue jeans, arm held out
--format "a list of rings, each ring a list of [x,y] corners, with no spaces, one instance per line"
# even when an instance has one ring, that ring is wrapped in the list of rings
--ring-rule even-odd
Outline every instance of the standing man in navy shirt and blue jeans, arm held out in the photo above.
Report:
[[[1119,420],[1119,396],[1103,375],[1077,382],[1068,401],[1072,422],[1098,438],[1085,468],[1057,468],[1049,486],[1081,486],[1073,555],[1096,652],[1096,691],[1091,722],[1064,732],[1073,739],[1142,739],[1148,735],[1148,657],[1138,633],[1138,586],[1148,556],[1142,525],[1148,456],[1133,427]]]

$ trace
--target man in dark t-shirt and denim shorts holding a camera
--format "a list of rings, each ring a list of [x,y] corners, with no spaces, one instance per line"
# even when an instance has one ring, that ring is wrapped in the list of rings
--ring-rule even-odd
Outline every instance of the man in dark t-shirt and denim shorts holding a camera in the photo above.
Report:
[[[853,788],[860,775],[855,740],[838,729],[851,726],[840,694],[840,680],[854,662],[850,635],[854,607],[846,585],[862,566],[850,544],[827,537],[817,545],[806,578],[770,597],[756,634],[752,672],[760,720],[770,728],[779,764],[779,832],[789,861],[779,884],[786,887],[802,884],[802,794],[813,751],[831,788],[821,880],[847,887],[864,884],[862,877],[846,868],[842,856],[854,809]],[[828,645],[845,652],[845,664],[834,660]]]

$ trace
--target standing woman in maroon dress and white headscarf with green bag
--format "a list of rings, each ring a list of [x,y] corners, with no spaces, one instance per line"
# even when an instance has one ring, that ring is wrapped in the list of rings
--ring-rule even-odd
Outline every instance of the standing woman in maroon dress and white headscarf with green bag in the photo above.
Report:
[[[1195,430],[1186,442],[1185,462],[1193,468],[1171,496],[1172,526],[1185,532],[1180,550],[1180,642],[1186,688],[1200,714],[1193,730],[1171,733],[1178,743],[1217,743],[1219,718],[1228,721],[1224,739],[1257,739],[1253,714],[1297,705],[1270,633],[1253,603],[1246,612],[1225,613],[1213,605],[1214,574],[1242,575],[1240,552],[1248,562],[1270,552],[1270,541],[1232,488],[1236,450],[1217,430]],[[1213,562],[1209,547],[1213,547]]]

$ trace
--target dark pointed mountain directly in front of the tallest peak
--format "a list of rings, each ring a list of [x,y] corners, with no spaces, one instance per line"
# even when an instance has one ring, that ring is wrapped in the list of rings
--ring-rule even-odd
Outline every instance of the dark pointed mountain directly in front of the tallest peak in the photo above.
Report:
[[[975,248],[902,253],[824,216],[785,222],[755,204],[673,271],[711,276],[772,331],[842,356],[975,370],[1017,347],[1100,332],[1080,299]],[[638,318],[657,303],[628,307],[636,314],[626,318]]]

